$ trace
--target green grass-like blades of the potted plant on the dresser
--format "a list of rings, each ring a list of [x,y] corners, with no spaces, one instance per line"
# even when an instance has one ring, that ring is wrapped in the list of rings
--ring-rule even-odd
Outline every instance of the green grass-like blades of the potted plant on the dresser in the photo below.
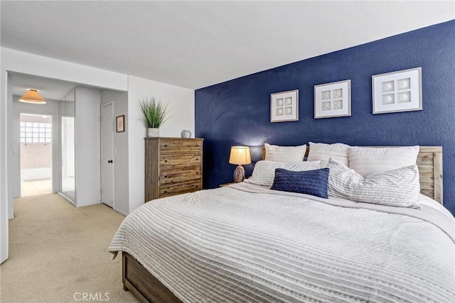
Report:
[[[168,104],[162,104],[154,97],[143,97],[139,100],[139,107],[146,128],[159,128],[168,119]]]

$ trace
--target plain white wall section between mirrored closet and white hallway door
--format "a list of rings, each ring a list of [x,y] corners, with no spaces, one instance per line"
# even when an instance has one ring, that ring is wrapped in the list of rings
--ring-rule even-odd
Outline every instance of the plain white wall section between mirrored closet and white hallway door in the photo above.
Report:
[[[76,206],[101,201],[101,92],[75,89]]]

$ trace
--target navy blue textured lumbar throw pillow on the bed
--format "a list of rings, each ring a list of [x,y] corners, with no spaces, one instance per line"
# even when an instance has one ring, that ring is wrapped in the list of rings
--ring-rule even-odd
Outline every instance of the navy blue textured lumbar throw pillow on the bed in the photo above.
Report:
[[[298,192],[328,199],[328,168],[293,172],[283,168],[275,169],[275,178],[270,189],[282,192]]]

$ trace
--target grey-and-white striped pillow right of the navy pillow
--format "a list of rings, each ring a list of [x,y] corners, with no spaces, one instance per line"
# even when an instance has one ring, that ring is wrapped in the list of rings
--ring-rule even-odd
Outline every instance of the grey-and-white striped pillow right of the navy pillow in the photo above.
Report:
[[[362,177],[346,165],[328,160],[328,195],[355,202],[420,209],[417,165]]]

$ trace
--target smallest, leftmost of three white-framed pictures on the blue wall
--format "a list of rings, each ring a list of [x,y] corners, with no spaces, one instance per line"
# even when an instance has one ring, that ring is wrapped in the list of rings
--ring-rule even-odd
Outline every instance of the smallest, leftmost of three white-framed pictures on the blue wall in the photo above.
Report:
[[[270,94],[270,122],[299,121],[299,89]]]

